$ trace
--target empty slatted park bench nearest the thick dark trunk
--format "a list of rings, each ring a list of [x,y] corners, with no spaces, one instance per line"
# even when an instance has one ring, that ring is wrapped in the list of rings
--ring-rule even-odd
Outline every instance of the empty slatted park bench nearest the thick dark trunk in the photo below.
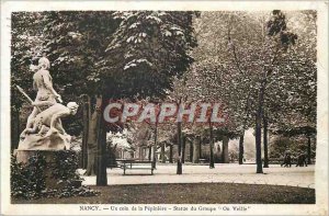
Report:
[[[126,174],[126,170],[150,170],[150,174],[154,174],[154,161],[134,159],[123,159],[116,161],[118,162],[118,167],[124,170],[124,175]]]

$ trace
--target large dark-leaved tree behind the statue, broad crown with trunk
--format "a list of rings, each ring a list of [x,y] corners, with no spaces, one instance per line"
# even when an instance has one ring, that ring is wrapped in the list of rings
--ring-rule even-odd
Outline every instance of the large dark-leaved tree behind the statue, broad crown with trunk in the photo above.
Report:
[[[109,99],[164,96],[172,77],[182,75],[193,60],[189,55],[196,46],[193,15],[189,11],[47,12],[45,46],[56,68],[54,80],[65,84],[60,93],[101,94],[101,113]],[[102,137],[116,128],[100,125],[104,125],[98,127]],[[105,139],[99,140],[100,150]],[[102,150],[98,154],[103,161]],[[98,170],[104,174],[104,169]]]

